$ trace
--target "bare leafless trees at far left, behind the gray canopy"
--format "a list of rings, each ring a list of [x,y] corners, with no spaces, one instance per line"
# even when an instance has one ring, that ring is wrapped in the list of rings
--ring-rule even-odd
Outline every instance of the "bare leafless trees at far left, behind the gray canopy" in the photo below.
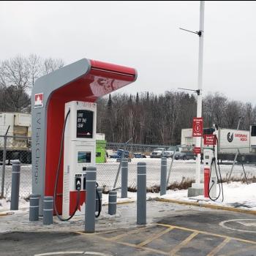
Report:
[[[15,56],[0,62],[1,111],[27,111],[29,93],[37,78],[64,66],[61,59],[42,60],[36,54]]]

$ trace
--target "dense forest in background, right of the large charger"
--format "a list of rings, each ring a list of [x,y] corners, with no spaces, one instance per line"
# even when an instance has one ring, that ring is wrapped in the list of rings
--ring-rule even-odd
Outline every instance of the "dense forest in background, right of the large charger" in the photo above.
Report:
[[[97,102],[97,132],[106,140],[124,143],[177,145],[181,143],[181,129],[192,128],[196,116],[197,99],[194,94],[166,91],[165,94],[110,94]],[[220,93],[203,98],[204,127],[249,129],[256,123],[256,106],[230,100]]]

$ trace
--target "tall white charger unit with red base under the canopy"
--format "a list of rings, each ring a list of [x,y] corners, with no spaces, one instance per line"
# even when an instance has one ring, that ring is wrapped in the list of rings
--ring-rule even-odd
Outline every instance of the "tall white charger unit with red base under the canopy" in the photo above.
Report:
[[[67,218],[75,211],[85,213],[86,167],[95,166],[96,157],[96,103],[68,102],[65,104],[67,124],[64,134],[63,211]]]

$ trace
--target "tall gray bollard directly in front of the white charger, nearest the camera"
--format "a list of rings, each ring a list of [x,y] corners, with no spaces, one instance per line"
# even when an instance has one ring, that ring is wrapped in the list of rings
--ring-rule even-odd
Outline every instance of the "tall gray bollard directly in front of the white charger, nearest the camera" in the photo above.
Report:
[[[95,231],[96,167],[86,168],[86,220],[85,231]]]

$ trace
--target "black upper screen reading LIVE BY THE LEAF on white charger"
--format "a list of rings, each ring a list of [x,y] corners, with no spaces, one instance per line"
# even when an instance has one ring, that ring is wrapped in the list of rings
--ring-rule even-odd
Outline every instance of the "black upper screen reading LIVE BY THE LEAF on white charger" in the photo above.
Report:
[[[94,121],[93,118],[93,111],[77,111],[77,138],[92,138]]]

